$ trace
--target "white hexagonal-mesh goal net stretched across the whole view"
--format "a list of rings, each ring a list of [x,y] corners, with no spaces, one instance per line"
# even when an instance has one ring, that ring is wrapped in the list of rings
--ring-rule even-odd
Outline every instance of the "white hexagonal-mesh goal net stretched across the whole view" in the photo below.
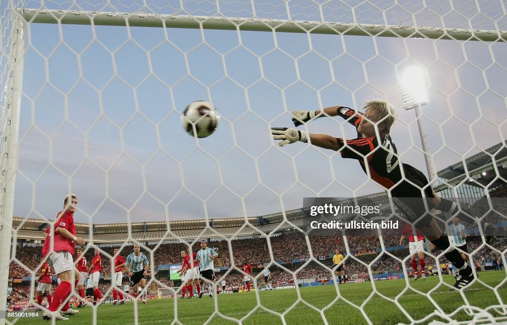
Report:
[[[0,323],[47,311],[44,231],[70,193],[87,273],[101,257],[84,297],[71,290],[76,323],[507,321],[506,10],[469,0],[1,2],[0,303],[19,313]],[[465,290],[453,289],[446,251],[425,241],[411,260],[403,213],[372,170],[315,138],[280,147],[271,135],[357,138],[350,120],[295,127],[292,111],[363,111],[374,99],[397,111],[388,170],[414,166],[478,218],[457,221],[454,238],[450,214],[432,211],[452,245],[467,242],[475,280]],[[182,127],[198,100],[220,115],[202,139]],[[373,156],[344,147],[367,165]],[[386,228],[312,232],[312,202],[379,207],[327,221]],[[136,291],[140,277],[115,265],[137,245],[149,266]],[[214,279],[189,277],[187,289],[184,253],[203,245],[216,253]],[[190,292],[204,297],[179,299]]]

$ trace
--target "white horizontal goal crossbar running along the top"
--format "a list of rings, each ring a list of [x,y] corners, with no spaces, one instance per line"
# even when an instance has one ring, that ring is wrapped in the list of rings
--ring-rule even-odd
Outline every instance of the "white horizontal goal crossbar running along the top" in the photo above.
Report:
[[[144,13],[96,13],[86,11],[21,9],[19,13],[29,23],[204,28],[245,31],[277,31],[292,33],[342,34],[356,36],[413,37],[428,39],[482,40],[506,42],[507,31],[447,29],[413,26],[386,26],[351,23],[329,23],[258,18],[223,18],[175,16]]]

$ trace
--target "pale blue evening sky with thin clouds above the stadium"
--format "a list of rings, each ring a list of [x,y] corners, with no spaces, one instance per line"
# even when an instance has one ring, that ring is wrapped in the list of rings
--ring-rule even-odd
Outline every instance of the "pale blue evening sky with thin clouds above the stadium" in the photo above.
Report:
[[[174,13],[166,4],[160,12]],[[185,2],[195,15],[213,14],[206,4]],[[294,2],[292,17],[316,19],[315,4]],[[441,8],[451,12],[450,27],[505,26],[495,4],[482,9],[491,18],[482,22],[459,4]],[[409,17],[404,6],[384,5],[387,23]],[[120,2],[114,10],[135,6]],[[287,17],[284,6],[263,6],[259,16]],[[366,3],[333,6],[322,9],[327,21],[350,20],[352,12],[362,23],[383,19]],[[412,2],[416,22],[439,24],[421,18],[418,6]],[[249,15],[240,2],[221,10]],[[305,196],[381,191],[356,161],[302,143],[280,148],[269,128],[291,127],[292,110],[386,99],[398,108],[391,136],[402,160],[426,172],[415,112],[403,110],[397,87],[396,75],[412,65],[428,76],[423,124],[437,170],[505,139],[507,48],[500,43],[31,24],[25,49],[16,217],[52,219],[68,191],[80,199],[77,220],[93,223],[257,216],[299,208]],[[212,136],[196,141],[180,126],[180,112],[201,99],[221,119]],[[307,127],[355,137],[340,118]]]

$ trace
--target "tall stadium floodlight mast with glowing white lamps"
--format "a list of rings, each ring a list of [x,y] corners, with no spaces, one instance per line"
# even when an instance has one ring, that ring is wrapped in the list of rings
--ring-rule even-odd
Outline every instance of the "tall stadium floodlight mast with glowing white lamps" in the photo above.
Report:
[[[431,180],[437,179],[437,172],[433,164],[433,158],[428,153],[428,144],[426,142],[426,135],[424,134],[424,128],[421,120],[421,106],[426,105],[428,102],[425,92],[424,79],[424,71],[421,68],[407,68],[400,78],[400,89],[402,90],[403,107],[406,110],[415,109],[422,150],[424,151],[424,160],[426,161],[426,169],[431,182]]]

